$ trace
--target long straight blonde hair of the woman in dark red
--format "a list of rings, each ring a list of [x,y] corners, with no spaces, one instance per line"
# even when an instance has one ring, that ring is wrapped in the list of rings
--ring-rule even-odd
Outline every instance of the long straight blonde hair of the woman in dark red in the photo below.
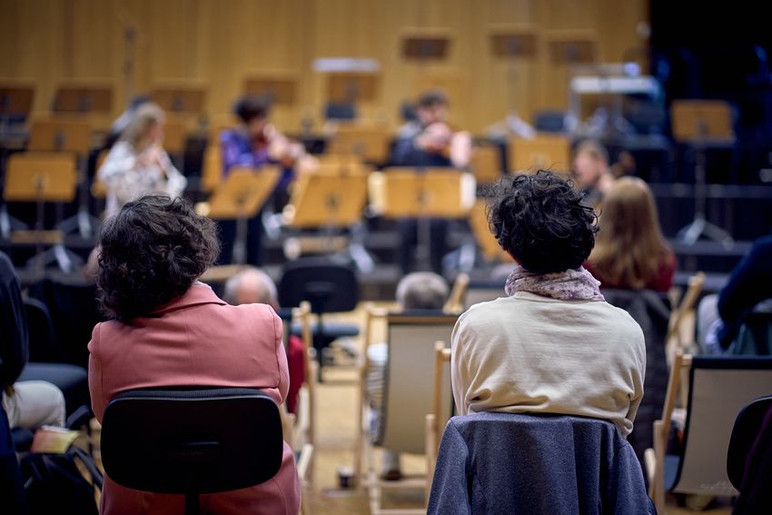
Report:
[[[589,255],[600,282],[645,289],[656,281],[668,253],[648,184],[638,177],[618,179],[603,199],[595,249]]]

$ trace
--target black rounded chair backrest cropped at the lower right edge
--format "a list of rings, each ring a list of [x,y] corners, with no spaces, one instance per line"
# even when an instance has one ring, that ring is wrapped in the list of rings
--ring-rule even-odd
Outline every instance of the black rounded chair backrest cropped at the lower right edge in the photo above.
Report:
[[[772,413],[772,395],[759,397],[746,404],[737,413],[727,450],[727,476],[737,490],[742,490],[748,455],[751,449],[756,447],[759,433],[765,429],[765,421],[767,422],[766,431],[772,429],[772,426],[769,426],[770,413]]]

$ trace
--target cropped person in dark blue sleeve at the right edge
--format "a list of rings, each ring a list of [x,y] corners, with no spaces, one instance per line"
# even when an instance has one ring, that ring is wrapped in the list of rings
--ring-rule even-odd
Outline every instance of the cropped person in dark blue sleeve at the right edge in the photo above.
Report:
[[[718,295],[706,295],[698,305],[700,352],[720,354],[737,338],[746,315],[772,298],[772,236],[753,243],[750,252],[729,275]]]

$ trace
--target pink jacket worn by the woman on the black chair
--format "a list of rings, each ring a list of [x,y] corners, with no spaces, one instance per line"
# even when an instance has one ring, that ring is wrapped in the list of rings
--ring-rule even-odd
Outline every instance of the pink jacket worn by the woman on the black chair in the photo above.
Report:
[[[98,421],[115,394],[163,386],[258,388],[282,403],[289,388],[282,320],[266,304],[231,306],[196,282],[175,302],[133,325],[94,327],[88,383]],[[284,443],[282,468],[261,485],[201,496],[203,513],[297,515],[295,461]],[[129,490],[104,478],[103,515],[183,513],[183,496]]]

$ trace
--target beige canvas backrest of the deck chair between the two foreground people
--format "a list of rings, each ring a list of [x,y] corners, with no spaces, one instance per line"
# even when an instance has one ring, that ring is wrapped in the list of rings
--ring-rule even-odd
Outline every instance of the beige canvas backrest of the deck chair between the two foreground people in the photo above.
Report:
[[[380,439],[387,449],[422,454],[426,450],[426,415],[433,412],[435,342],[448,342],[458,315],[421,310],[386,317],[388,361],[383,386]],[[447,399],[439,420],[450,417],[450,365],[442,381]]]

